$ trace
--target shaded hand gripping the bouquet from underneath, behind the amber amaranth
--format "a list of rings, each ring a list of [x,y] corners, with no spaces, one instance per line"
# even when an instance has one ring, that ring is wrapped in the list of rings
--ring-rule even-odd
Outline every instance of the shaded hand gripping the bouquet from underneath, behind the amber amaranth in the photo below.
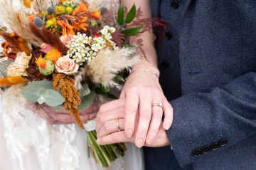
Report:
[[[61,107],[60,110],[55,111],[52,107],[46,104],[38,105],[28,102],[28,107],[34,110],[34,112],[41,118],[45,119],[49,124],[71,124],[75,123],[75,119],[71,116],[65,107]],[[79,110],[80,119],[83,123],[96,117],[94,112],[97,112],[99,107],[91,105],[86,110]]]

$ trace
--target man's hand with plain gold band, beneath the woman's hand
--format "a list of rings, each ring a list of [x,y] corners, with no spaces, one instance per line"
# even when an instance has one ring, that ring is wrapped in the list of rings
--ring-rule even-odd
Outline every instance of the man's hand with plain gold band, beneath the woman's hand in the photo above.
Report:
[[[130,138],[124,133],[124,110],[126,99],[122,98],[108,102],[100,107],[96,118],[96,132],[98,144],[113,144],[117,142],[135,143],[135,134],[139,124],[139,114],[135,117],[134,135]],[[114,108],[112,106],[115,106]],[[118,122],[117,122],[118,119]],[[119,125],[119,129],[117,127]],[[161,124],[162,125],[162,124]],[[120,130],[120,131],[119,131]],[[163,147],[169,145],[169,139],[162,126],[157,129],[156,139],[149,147]]]

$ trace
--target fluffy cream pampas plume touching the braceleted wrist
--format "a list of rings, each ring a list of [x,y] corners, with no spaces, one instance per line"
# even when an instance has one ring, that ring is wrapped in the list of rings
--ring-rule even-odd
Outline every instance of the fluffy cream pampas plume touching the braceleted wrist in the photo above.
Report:
[[[105,87],[121,86],[114,82],[114,78],[124,69],[129,69],[139,63],[140,55],[137,53],[136,48],[118,48],[111,51],[109,48],[102,49],[97,53],[96,57],[91,60],[87,68],[82,69],[75,78],[75,85],[80,86],[80,81],[85,79],[85,76],[92,81],[95,85],[103,85]]]

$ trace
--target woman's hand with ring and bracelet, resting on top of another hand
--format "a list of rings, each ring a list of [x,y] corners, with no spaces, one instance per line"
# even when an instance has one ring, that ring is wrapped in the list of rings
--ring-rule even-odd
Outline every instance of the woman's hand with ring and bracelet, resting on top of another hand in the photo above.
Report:
[[[169,129],[172,124],[173,110],[159,85],[159,78],[153,73],[143,70],[134,71],[127,78],[120,98],[126,97],[124,132],[128,138],[134,134],[137,127],[135,144],[142,147],[144,143],[152,144],[156,139],[160,125]],[[155,105],[162,103],[162,107]],[[139,110],[138,110],[139,109]],[[138,112],[137,112],[138,111]],[[164,123],[161,119],[164,112]],[[135,117],[139,114],[139,122],[135,124]]]

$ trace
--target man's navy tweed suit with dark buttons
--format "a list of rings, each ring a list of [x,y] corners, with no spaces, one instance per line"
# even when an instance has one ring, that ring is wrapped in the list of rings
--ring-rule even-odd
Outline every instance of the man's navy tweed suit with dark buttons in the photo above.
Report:
[[[179,165],[256,169],[256,1],[152,0],[151,7],[171,23],[156,51]],[[171,149],[159,151],[151,164],[173,159]]]

